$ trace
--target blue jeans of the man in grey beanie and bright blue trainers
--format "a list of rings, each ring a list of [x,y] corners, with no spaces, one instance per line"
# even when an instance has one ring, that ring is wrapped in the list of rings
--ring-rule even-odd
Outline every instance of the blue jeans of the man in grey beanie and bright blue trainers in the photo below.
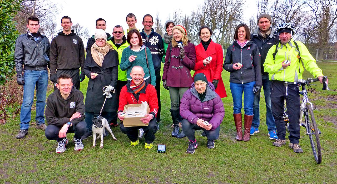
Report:
[[[272,113],[272,105],[270,100],[270,84],[271,81],[269,80],[268,75],[262,75],[262,86],[263,86],[263,93],[265,94],[265,101],[266,101],[266,110],[267,110],[267,118],[266,124],[268,127],[268,132],[276,131],[276,124]],[[261,91],[255,94],[254,102],[253,102],[253,122],[252,126],[258,128],[260,125],[260,110],[259,110],[259,103],[260,103]]]

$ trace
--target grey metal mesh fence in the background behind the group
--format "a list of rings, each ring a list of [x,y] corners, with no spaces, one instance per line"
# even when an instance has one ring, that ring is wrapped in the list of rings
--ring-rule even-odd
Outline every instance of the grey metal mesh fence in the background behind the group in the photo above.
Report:
[[[318,62],[337,62],[337,49],[308,49],[310,54]],[[222,49],[223,58],[226,56],[227,49]]]

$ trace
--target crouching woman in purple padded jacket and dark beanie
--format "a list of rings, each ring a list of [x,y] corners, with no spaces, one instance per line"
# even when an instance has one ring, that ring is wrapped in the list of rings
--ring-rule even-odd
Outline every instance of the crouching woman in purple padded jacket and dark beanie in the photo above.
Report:
[[[214,140],[219,138],[220,124],[225,115],[223,103],[214,92],[214,85],[207,81],[203,73],[194,76],[194,83],[185,92],[180,104],[183,132],[189,140],[187,153],[194,153],[198,146],[194,133],[204,130],[207,136],[207,148],[215,147]]]

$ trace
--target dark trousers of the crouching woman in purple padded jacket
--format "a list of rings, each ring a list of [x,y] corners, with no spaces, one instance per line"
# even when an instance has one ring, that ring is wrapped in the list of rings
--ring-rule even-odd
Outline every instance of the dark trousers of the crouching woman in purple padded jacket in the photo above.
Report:
[[[220,126],[215,128],[215,130],[210,131],[202,128],[196,124],[190,123],[187,119],[183,119],[181,122],[181,127],[184,134],[187,136],[188,140],[194,141],[195,140],[195,131],[196,130],[204,130],[209,140],[217,140],[219,138]]]

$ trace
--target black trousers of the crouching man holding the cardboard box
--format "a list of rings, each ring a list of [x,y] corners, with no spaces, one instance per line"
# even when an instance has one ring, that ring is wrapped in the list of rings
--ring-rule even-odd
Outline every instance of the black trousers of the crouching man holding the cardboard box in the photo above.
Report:
[[[138,139],[138,129],[143,128],[144,130],[144,138],[145,142],[150,144],[154,141],[156,129],[157,129],[157,122],[156,119],[152,119],[149,122],[149,126],[131,126],[125,127],[123,123],[120,124],[121,131],[127,135],[127,137],[132,141],[135,142]]]

